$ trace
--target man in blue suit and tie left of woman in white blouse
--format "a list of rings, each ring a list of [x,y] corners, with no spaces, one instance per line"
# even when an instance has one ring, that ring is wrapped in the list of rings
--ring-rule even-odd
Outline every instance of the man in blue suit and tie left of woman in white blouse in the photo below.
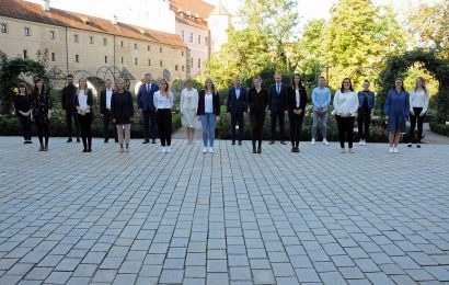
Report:
[[[143,118],[143,142],[150,142],[150,123],[151,123],[151,144],[156,144],[156,106],[153,103],[154,93],[159,91],[159,86],[152,83],[150,73],[145,75],[145,82],[139,87],[137,92],[137,110],[142,111]]]

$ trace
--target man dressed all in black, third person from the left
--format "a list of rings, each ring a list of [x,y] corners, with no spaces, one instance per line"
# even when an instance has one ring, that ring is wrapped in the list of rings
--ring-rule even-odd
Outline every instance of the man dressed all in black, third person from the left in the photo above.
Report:
[[[80,142],[80,124],[78,122],[78,111],[74,106],[74,99],[77,96],[77,87],[73,86],[73,76],[67,76],[67,86],[62,88],[62,111],[66,113],[66,124],[67,124],[67,142],[72,141],[71,133],[71,122],[73,119],[74,129],[77,130],[77,142]]]

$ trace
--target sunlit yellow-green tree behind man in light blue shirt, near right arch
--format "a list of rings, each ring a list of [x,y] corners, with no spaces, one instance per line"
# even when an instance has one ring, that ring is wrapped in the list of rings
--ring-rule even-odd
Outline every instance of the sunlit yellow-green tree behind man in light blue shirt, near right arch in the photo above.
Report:
[[[331,9],[326,29],[325,61],[331,66],[330,84],[337,88],[357,68],[381,70],[385,56],[404,50],[406,33],[392,9],[375,7],[371,0],[341,0]],[[373,79],[376,72],[354,73],[353,83]]]

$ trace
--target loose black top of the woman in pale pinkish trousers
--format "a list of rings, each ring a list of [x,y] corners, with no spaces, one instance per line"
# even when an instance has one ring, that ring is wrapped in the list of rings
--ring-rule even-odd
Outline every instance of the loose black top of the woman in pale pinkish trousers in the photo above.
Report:
[[[111,99],[111,117],[116,125],[130,124],[134,117],[133,95],[125,90],[122,93],[115,91]]]

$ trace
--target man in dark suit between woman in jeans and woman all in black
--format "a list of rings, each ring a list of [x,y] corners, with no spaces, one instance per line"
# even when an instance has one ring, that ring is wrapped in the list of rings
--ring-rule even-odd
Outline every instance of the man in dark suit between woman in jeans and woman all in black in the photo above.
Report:
[[[231,139],[235,145],[235,125],[239,125],[239,146],[243,140],[244,115],[247,111],[246,90],[242,88],[242,79],[234,78],[234,87],[228,91],[227,112],[231,114]]]

